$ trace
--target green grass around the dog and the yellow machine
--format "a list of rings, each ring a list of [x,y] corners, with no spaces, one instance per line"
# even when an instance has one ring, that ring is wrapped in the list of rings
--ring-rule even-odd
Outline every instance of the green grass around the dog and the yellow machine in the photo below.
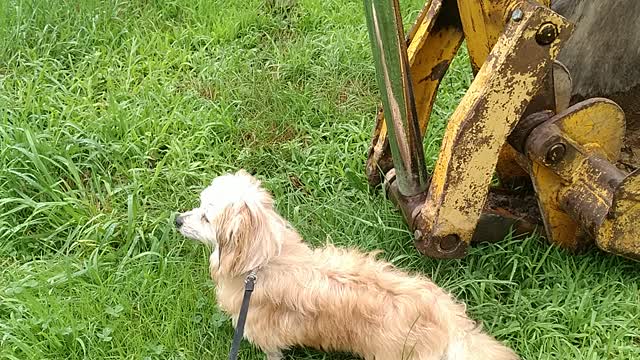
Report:
[[[535,236],[420,257],[364,177],[378,92],[362,3],[273,3],[0,2],[1,359],[225,359],[206,249],[172,220],[237,168],[310,243],[384,249],[525,359],[640,358],[636,263]],[[420,5],[403,2],[407,23]],[[441,87],[429,166],[465,59]],[[263,355],[245,343],[241,358]]]

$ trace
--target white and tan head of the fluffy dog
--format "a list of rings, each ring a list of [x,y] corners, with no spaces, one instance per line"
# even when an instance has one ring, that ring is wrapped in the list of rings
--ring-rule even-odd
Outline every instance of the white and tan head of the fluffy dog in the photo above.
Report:
[[[213,179],[200,206],[176,217],[182,235],[212,246],[219,273],[240,276],[278,255],[273,200],[260,181],[244,170]]]

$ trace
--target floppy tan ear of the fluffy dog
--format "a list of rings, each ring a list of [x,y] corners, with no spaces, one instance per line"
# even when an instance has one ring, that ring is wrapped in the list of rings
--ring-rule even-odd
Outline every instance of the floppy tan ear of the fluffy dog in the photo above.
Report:
[[[227,224],[218,241],[221,274],[241,276],[280,253],[280,235],[272,231],[273,219],[267,209],[242,202],[227,211]]]

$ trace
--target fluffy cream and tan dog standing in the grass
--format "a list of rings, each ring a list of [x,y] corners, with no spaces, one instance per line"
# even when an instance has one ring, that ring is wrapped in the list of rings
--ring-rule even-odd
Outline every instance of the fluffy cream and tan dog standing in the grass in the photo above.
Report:
[[[245,278],[257,274],[245,338],[268,360],[297,346],[365,360],[519,359],[427,278],[375,254],[310,248],[244,170],[216,177],[200,206],[176,217],[176,227],[212,248],[217,302],[234,326]]]

